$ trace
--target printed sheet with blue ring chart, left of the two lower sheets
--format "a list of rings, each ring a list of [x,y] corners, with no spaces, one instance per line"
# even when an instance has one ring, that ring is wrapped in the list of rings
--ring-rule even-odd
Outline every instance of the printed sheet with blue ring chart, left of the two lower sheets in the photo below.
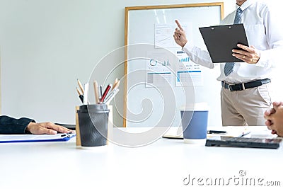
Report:
[[[170,59],[168,52],[146,52],[146,87],[172,85]]]

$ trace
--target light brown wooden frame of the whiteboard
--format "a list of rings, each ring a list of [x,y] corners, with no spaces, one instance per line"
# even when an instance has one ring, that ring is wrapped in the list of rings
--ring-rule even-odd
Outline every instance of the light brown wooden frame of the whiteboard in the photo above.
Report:
[[[141,11],[149,9],[161,9],[161,8],[189,8],[189,7],[202,7],[202,6],[219,6],[221,20],[224,18],[224,3],[214,2],[214,3],[202,3],[202,4],[174,4],[174,5],[161,5],[161,6],[131,6],[125,7],[125,88],[124,88],[124,116],[123,116],[123,127],[127,127],[127,71],[128,71],[128,30],[129,30],[129,11]]]

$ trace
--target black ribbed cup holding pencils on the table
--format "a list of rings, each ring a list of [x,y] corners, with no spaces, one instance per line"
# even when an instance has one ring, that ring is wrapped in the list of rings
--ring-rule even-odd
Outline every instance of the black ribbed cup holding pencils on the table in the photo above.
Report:
[[[77,113],[81,147],[106,145],[108,139],[108,106],[104,103],[81,105]]]

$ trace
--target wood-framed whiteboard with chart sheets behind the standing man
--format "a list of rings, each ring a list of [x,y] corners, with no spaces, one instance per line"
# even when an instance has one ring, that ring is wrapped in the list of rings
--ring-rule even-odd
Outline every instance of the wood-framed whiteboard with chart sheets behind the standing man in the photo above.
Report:
[[[194,73],[178,83],[181,48],[173,32],[178,19],[188,41],[205,50],[199,28],[218,25],[221,18],[223,3],[126,7],[124,127],[178,127],[180,109],[211,100],[204,92],[210,86],[207,81],[216,80],[216,70],[190,65]]]

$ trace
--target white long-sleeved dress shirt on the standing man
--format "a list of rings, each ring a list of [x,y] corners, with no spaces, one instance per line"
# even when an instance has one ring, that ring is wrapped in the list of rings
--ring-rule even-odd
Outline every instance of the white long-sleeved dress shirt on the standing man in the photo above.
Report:
[[[239,6],[236,4],[236,9]],[[221,63],[221,74],[219,81],[226,81],[230,84],[239,84],[256,79],[271,78],[272,68],[275,64],[282,62],[283,55],[283,33],[279,30],[279,19],[270,11],[267,4],[247,0],[241,6],[243,11],[242,21],[245,26],[248,44],[260,50],[260,59],[257,64],[236,62],[233,72],[229,76],[224,74],[224,65]],[[221,25],[233,24],[236,10],[230,13],[221,21]],[[204,67],[214,68],[214,63],[206,50],[195,47],[190,42],[183,47],[183,50],[190,57],[192,62]],[[232,54],[232,52],[231,52]]]

